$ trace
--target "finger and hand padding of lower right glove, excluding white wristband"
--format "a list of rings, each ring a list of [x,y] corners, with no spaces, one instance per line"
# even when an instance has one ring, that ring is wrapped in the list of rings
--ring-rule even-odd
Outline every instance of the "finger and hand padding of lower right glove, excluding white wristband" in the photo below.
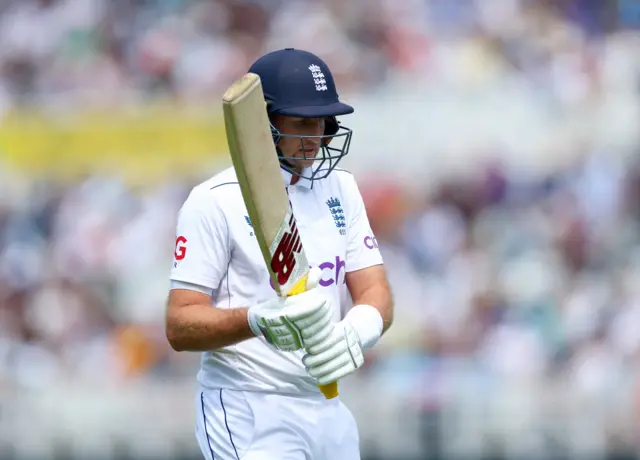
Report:
[[[345,318],[337,323],[323,342],[307,347],[302,362],[319,385],[340,380],[364,364],[358,333]]]

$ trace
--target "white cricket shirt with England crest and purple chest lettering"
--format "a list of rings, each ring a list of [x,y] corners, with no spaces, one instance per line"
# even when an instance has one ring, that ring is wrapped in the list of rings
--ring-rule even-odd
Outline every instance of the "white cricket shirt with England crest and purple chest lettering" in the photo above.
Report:
[[[285,184],[291,174],[282,170]],[[341,319],[350,296],[345,274],[382,263],[354,177],[287,186],[309,264]],[[233,168],[194,187],[178,214],[171,280],[208,288],[216,308],[249,307],[275,296]],[[342,310],[342,311],[341,311]],[[304,351],[284,353],[256,337],[202,354],[198,381],[206,388],[318,393],[302,364]]]

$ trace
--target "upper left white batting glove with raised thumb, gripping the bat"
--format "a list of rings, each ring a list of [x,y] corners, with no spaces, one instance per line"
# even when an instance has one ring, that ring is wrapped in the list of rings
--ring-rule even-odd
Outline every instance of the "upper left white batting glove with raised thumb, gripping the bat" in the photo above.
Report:
[[[257,336],[281,351],[312,347],[326,339],[333,328],[333,303],[318,283],[322,271],[309,271],[307,291],[291,297],[275,297],[249,308],[249,327]]]

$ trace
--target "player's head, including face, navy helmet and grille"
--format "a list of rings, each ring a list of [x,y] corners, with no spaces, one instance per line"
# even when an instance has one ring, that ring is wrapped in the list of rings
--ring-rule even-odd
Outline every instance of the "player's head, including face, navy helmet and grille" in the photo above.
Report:
[[[353,107],[340,102],[327,64],[286,48],[265,54],[249,72],[262,82],[282,168],[312,181],[327,177],[349,153],[353,134],[336,118]]]

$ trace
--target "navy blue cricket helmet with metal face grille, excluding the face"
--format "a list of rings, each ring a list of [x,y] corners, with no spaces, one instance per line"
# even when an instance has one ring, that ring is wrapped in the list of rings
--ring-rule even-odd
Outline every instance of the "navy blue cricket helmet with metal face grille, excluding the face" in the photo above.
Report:
[[[340,102],[333,75],[327,64],[313,53],[286,48],[259,58],[249,72],[260,77],[267,102],[267,113],[300,118],[324,118],[322,136],[298,136],[280,132],[273,123],[271,131],[282,167],[292,174],[318,180],[327,177],[349,153],[353,131],[338,123],[337,116],[353,113],[353,107]],[[282,138],[298,138],[304,152],[305,139],[319,138],[320,150],[310,171],[295,171],[278,148]],[[331,146],[329,144],[332,144]]]

